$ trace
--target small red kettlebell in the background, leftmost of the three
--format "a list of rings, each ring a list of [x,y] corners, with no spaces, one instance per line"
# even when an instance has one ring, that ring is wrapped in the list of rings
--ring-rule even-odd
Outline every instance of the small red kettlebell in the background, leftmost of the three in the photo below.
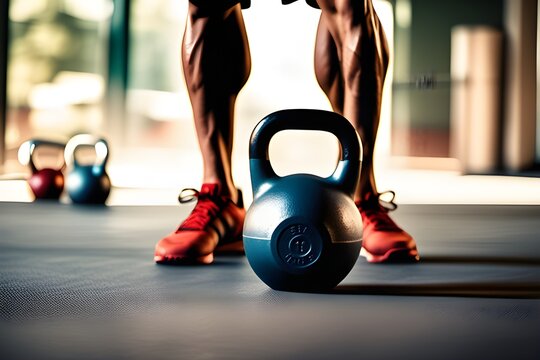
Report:
[[[62,170],[65,167],[65,162],[63,162],[62,166],[58,169],[53,169],[50,167],[38,169],[34,161],[35,150],[42,146],[58,148],[60,151],[63,151],[65,145],[42,139],[28,140],[19,147],[19,162],[22,165],[28,165],[32,171],[32,174],[27,182],[36,200],[57,200],[60,198],[60,195],[64,190],[64,175],[62,174]]]

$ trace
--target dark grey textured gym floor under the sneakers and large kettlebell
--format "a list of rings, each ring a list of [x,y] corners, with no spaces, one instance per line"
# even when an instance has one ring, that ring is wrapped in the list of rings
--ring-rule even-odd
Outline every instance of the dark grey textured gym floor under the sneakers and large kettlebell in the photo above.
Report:
[[[189,210],[0,203],[0,357],[539,358],[540,206],[404,204],[421,262],[360,258],[320,294],[244,257],[154,264]]]

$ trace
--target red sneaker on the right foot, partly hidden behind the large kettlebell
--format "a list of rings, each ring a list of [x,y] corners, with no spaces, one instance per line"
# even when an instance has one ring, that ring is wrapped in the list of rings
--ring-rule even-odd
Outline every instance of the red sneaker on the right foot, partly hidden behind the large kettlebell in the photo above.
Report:
[[[356,204],[364,225],[360,255],[370,263],[416,262],[420,257],[414,239],[388,216],[397,208],[393,202],[395,193],[386,193],[392,195],[389,202],[381,201],[381,194],[368,194]]]

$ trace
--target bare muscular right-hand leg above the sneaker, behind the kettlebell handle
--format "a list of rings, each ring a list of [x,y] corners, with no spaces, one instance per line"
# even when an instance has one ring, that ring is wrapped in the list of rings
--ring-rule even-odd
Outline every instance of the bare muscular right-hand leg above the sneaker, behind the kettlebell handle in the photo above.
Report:
[[[355,200],[377,193],[373,149],[388,69],[386,37],[371,0],[318,0],[315,73],[334,111],[358,131],[364,150]]]

